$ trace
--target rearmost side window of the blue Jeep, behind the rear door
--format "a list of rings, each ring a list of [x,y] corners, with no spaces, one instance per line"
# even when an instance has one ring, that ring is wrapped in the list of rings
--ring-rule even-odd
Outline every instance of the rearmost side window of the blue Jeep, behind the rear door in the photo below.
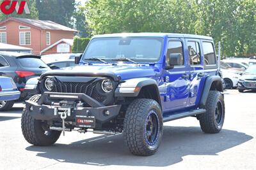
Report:
[[[205,65],[212,65],[216,64],[215,53],[213,50],[212,43],[203,42],[203,49],[204,49],[204,63]]]

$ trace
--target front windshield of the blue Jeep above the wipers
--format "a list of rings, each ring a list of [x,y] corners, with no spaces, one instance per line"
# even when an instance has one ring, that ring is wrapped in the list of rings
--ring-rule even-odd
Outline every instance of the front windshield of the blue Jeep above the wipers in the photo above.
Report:
[[[127,58],[136,62],[157,62],[162,46],[161,38],[95,38],[86,48],[83,60],[99,58],[113,62],[113,59]]]

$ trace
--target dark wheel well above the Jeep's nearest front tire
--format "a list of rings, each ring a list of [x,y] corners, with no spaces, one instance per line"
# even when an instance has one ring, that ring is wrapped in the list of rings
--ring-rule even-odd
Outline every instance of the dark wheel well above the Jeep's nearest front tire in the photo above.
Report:
[[[141,88],[138,98],[154,99],[161,106],[161,99],[156,85],[146,85]]]

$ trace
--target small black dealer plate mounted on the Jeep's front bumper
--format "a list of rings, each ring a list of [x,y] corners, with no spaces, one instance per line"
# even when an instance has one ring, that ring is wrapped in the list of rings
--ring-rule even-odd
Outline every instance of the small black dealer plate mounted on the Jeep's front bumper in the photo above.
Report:
[[[77,127],[94,128],[95,122],[96,120],[93,116],[76,115]]]

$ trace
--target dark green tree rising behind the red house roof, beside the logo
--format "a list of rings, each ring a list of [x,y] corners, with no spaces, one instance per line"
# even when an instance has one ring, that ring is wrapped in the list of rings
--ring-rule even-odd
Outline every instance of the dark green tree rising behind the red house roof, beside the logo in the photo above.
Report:
[[[67,27],[72,27],[75,0],[36,0],[40,20],[51,20]]]

